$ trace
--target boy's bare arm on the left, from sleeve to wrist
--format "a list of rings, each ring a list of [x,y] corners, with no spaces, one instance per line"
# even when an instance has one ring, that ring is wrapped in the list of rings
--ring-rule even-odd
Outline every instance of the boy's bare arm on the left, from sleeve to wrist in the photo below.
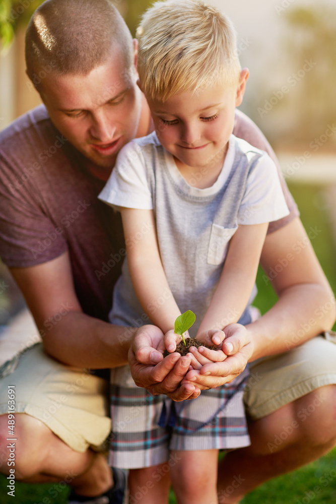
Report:
[[[124,207],[120,211],[133,287],[152,323],[166,333],[181,313],[162,266],[153,211]]]

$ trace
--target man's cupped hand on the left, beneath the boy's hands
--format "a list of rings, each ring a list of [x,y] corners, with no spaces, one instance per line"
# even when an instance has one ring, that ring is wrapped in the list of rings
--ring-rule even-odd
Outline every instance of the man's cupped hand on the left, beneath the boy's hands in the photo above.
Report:
[[[185,379],[190,358],[172,353],[163,358],[163,333],[156,326],[143,326],[138,331],[128,352],[128,363],[133,380],[151,394],[166,394],[174,401],[194,399],[200,389]]]

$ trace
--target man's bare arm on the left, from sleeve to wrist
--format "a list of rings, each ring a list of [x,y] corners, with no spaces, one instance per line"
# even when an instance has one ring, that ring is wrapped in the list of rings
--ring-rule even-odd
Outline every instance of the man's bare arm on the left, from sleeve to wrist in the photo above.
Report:
[[[127,364],[134,329],[112,326],[83,313],[68,252],[29,268],[12,268],[43,338],[54,358],[80,367]]]

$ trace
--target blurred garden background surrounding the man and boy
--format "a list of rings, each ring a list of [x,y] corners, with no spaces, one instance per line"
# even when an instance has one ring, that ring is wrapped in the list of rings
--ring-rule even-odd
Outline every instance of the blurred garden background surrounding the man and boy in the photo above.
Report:
[[[112,3],[133,36],[140,15],[152,4],[146,0],[113,0]],[[335,292],[336,2],[208,0],[208,3],[222,9],[236,27],[241,65],[250,70],[240,109],[256,122],[275,149],[299,206],[302,222],[308,232],[316,231],[310,233],[311,242]],[[24,62],[25,27],[40,4],[40,0],[0,0],[0,130],[40,103],[39,95],[25,74]],[[276,295],[261,270],[257,285],[256,304],[264,312],[274,304]],[[0,363],[17,348],[17,343],[11,345],[16,337],[20,348],[26,344],[20,340],[20,335],[24,334],[29,344],[38,339],[23,307],[18,289],[0,263]],[[285,480],[279,478],[253,492],[244,502],[301,502],[309,478],[316,483],[323,471],[335,466],[334,452],[330,461],[323,460],[295,473],[294,480],[298,480],[294,493],[288,493],[292,491],[288,481],[283,493]],[[28,485],[23,487],[25,496],[17,502],[37,504],[38,497],[34,493],[37,490]],[[32,497],[28,495],[30,492]],[[65,502],[61,494],[55,501],[50,495],[48,498],[49,502]],[[5,499],[1,502],[7,502]],[[336,502],[336,478],[325,493],[314,500]]]

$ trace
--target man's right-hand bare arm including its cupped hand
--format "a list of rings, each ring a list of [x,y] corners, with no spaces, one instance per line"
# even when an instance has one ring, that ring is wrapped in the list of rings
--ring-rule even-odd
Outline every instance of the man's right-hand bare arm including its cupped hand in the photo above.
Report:
[[[295,253],[300,244],[304,246]],[[194,379],[194,385],[202,389],[229,383],[247,362],[286,352],[332,327],[336,318],[334,295],[298,218],[266,236],[261,264],[266,272],[270,271],[289,253],[293,259],[272,280],[279,300],[246,328],[239,324],[227,326],[229,337],[222,348],[228,358],[206,364],[200,371],[189,371],[186,378]]]

